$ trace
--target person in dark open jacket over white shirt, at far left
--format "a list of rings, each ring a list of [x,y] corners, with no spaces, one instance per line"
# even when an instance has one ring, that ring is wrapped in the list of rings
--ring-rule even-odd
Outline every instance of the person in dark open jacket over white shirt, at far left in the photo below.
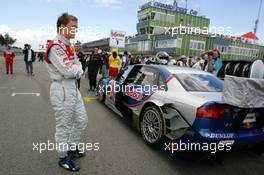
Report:
[[[23,54],[24,54],[24,61],[26,64],[26,69],[27,69],[27,75],[34,76],[33,62],[35,61],[36,56],[35,56],[35,52],[31,49],[31,46],[29,44],[24,45]]]

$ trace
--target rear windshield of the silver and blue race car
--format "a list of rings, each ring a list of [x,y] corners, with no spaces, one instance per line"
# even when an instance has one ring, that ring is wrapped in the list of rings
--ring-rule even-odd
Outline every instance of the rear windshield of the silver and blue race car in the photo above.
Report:
[[[208,74],[177,74],[175,77],[186,91],[222,92],[224,83],[214,75]]]

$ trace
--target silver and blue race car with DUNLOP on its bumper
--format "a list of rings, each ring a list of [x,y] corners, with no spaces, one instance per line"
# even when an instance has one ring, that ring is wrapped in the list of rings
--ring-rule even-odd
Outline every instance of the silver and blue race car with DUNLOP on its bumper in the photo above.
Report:
[[[149,145],[164,140],[255,145],[264,141],[264,109],[222,101],[224,82],[185,67],[134,65],[99,81],[98,99],[132,122]]]

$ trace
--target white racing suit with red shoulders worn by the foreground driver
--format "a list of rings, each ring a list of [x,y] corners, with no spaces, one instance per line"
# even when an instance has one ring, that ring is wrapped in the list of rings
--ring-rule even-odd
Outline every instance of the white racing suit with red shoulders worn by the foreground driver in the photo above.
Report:
[[[56,118],[56,149],[63,158],[70,148],[79,144],[88,123],[76,84],[83,70],[69,40],[60,35],[48,44],[45,61],[52,81],[50,101]]]

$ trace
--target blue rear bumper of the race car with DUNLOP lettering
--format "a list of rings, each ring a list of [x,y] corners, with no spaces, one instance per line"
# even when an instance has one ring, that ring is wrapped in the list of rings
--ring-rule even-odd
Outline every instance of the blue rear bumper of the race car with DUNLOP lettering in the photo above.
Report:
[[[196,118],[191,130],[195,133],[194,137],[213,143],[233,141],[233,146],[247,146],[264,142],[264,126],[257,123],[246,128],[242,124],[240,127],[234,127],[232,121],[225,118],[218,120]]]

